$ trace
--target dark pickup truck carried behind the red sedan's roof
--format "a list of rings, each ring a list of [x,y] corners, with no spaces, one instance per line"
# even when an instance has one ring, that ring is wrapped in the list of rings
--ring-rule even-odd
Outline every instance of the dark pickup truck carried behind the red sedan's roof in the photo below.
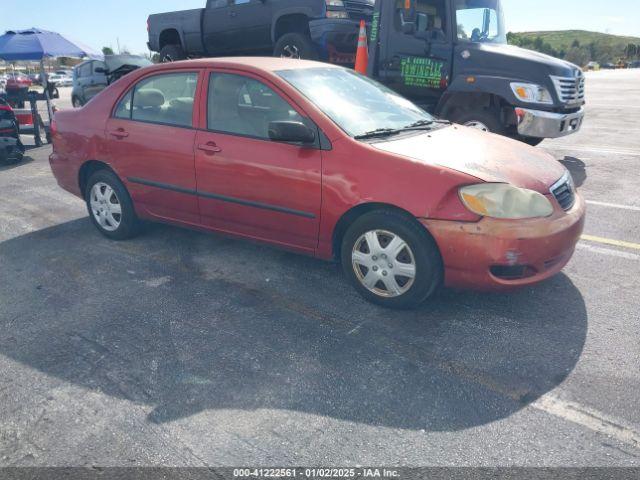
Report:
[[[360,20],[374,0],[207,0],[151,15],[149,49],[161,61],[266,54],[353,64]]]

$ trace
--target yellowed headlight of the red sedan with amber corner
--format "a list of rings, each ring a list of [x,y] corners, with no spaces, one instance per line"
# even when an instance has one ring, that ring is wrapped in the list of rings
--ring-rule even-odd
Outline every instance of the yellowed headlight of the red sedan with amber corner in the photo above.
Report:
[[[506,183],[481,183],[460,189],[464,205],[477,215],[493,218],[548,217],[551,202],[542,194]]]

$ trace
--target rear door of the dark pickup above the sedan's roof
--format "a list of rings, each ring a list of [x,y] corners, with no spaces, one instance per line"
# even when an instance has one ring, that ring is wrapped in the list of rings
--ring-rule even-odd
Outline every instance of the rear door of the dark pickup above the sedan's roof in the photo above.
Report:
[[[232,50],[271,53],[272,1],[231,0],[229,18]]]

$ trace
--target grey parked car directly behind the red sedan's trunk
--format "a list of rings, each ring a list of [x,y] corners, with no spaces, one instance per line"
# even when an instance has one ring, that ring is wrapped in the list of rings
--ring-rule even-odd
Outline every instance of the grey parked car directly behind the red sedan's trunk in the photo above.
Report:
[[[153,63],[138,55],[108,55],[104,61],[88,60],[77,65],[73,69],[73,106],[82,107],[111,83],[149,65]]]

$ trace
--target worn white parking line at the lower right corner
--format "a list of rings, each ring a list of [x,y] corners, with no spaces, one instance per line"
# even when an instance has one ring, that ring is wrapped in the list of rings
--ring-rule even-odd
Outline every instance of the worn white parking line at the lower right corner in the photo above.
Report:
[[[636,448],[640,447],[640,433],[631,426],[625,425],[622,421],[609,417],[597,410],[578,403],[560,400],[551,394],[540,397],[531,406],[569,422],[582,425],[594,432],[608,435]]]

